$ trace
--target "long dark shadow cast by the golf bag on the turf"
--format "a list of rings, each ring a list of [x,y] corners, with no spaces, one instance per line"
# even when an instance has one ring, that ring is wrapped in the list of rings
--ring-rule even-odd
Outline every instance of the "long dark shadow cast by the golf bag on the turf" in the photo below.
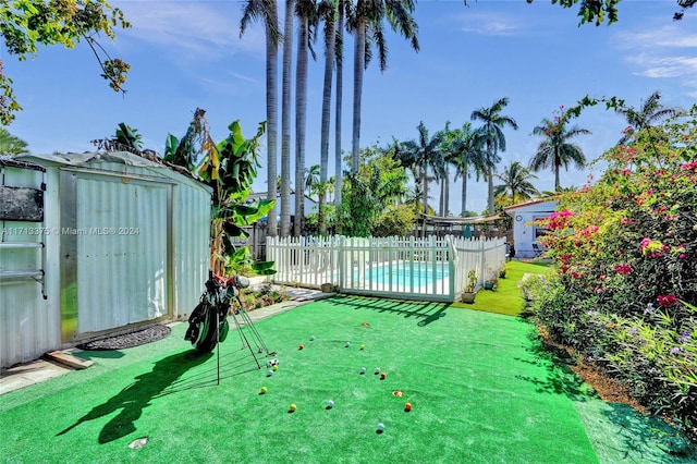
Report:
[[[176,353],[155,363],[151,371],[135,377],[134,382],[121,390],[117,395],[106,403],[93,407],[93,410],[70,427],[63,429],[58,436],[65,435],[78,425],[88,420],[95,420],[108,416],[115,411],[121,412],[107,423],[100,434],[99,443],[108,443],[119,438],[125,437],[136,430],[135,422],[143,414],[143,410],[148,407],[158,398],[179,391],[191,390],[217,384],[220,379],[243,374],[240,370],[245,364],[249,365],[249,352],[240,351],[239,354],[228,354],[220,358],[220,371],[218,364],[211,363],[204,370],[196,370],[193,375],[186,375],[191,369],[206,363],[213,357],[213,353],[199,354],[194,350]],[[248,370],[257,370],[254,368]]]

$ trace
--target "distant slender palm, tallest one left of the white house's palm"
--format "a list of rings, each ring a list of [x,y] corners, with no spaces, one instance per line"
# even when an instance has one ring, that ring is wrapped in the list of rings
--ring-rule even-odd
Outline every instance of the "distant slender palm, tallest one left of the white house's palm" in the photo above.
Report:
[[[503,127],[510,125],[514,130],[518,129],[518,124],[515,120],[508,115],[502,115],[501,110],[509,105],[509,98],[503,97],[493,102],[489,108],[480,108],[472,112],[470,119],[473,121],[479,120],[484,122],[484,126],[479,129],[479,132],[484,136],[485,144],[487,146],[487,182],[489,183],[489,200],[487,203],[489,215],[493,215],[493,171],[496,170],[497,162],[501,161],[499,157],[499,150],[505,151],[505,136],[503,135]]]

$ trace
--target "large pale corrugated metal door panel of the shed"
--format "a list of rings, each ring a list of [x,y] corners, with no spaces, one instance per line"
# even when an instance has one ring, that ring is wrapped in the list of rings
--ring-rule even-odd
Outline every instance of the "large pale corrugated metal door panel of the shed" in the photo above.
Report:
[[[77,331],[168,314],[168,211],[172,186],[77,175]]]

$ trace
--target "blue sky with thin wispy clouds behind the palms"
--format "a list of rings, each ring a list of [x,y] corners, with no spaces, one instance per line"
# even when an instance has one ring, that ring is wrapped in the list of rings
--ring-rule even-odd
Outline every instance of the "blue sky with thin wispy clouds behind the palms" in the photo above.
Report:
[[[117,125],[125,122],[143,135],[145,147],[161,154],[168,133],[184,135],[196,108],[206,110],[216,141],[227,136],[234,120],[240,120],[245,135],[256,133],[266,119],[266,45],[261,25],[253,25],[240,37],[242,1],[112,0],[111,4],[132,23],[131,28],[118,30],[115,41],[102,40],[112,57],[131,64],[125,95],[115,94],[99,77],[86,44],[73,50],[42,48],[24,62],[0,46],[5,74],[14,81],[24,108],[8,130],[27,142],[32,152],[93,150],[91,139],[113,136]],[[502,114],[515,119],[518,130],[504,130],[501,172],[512,161],[527,166],[541,141],[531,135],[533,129],[560,106],[574,106],[586,95],[616,96],[639,107],[659,90],[667,107],[695,105],[697,9],[688,10],[681,22],[672,20],[675,0],[623,0],[619,10],[617,23],[597,27],[579,26],[575,8],[565,10],[549,0],[531,4],[479,0],[468,7],[461,0],[419,1],[415,20],[420,51],[389,34],[388,69],[380,72],[375,61],[366,70],[362,147],[387,146],[393,137],[414,139],[420,121],[431,134],[448,121],[461,126],[474,110],[508,97]],[[281,21],[282,15],[281,11]],[[316,49],[308,82],[308,167],[319,163],[320,151],[321,44]],[[345,60],[342,149],[351,152],[353,40],[347,35]],[[279,62],[279,88],[280,71]],[[584,111],[575,123],[592,132],[574,139],[588,160],[616,144],[627,125],[600,106]],[[478,125],[473,122],[474,127]],[[332,119],[330,174],[334,172],[333,137]],[[261,162],[255,192],[267,188],[266,148]],[[561,184],[580,186],[598,169],[562,171]],[[536,175],[539,191],[553,190],[551,170]],[[451,184],[449,209],[455,216],[462,209],[461,188],[461,182]],[[486,192],[484,180],[473,179],[466,209],[486,209]],[[432,188],[431,194],[437,195]],[[437,203],[431,200],[433,206]]]

